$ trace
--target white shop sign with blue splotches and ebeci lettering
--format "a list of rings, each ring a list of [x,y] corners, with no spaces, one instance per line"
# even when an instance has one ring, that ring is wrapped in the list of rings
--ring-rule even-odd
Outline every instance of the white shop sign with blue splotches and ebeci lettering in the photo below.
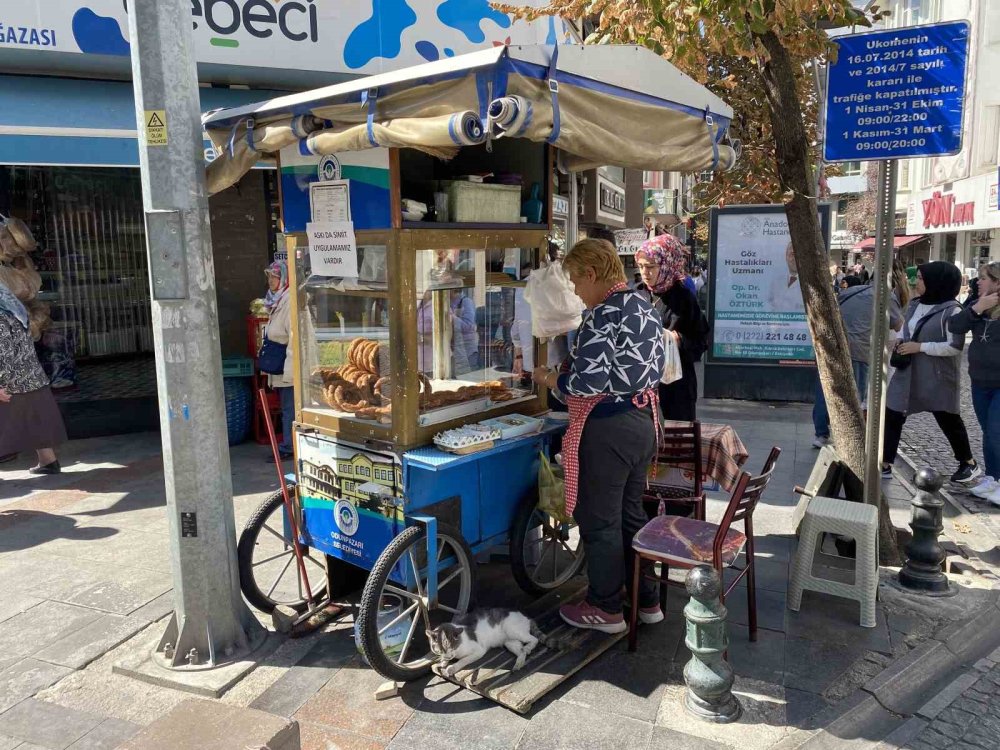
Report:
[[[126,6],[125,0],[3,3],[0,48],[127,56]],[[219,65],[273,67],[281,60],[298,70],[380,73],[495,44],[570,41],[561,20],[513,21],[479,0],[375,3],[375,15],[370,2],[330,0],[191,0],[190,7],[198,62]]]

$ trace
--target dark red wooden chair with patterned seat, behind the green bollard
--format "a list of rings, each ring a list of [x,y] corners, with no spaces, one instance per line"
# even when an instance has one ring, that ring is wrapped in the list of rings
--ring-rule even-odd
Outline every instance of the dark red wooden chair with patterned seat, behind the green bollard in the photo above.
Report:
[[[723,586],[720,599],[725,602],[743,576],[747,577],[747,615],[750,626],[750,640],[757,640],[757,591],[754,578],[753,549],[753,512],[757,508],[764,490],[771,481],[774,467],[778,463],[781,448],[771,449],[764,470],[759,476],[752,477],[743,472],[736,482],[729,505],[717,523],[708,523],[694,518],[681,516],[659,516],[647,523],[635,535],[632,549],[635,558],[632,566],[632,610],[629,621],[629,651],[635,651],[638,642],[636,625],[639,616],[639,578],[657,581],[662,587],[665,584],[683,586],[682,582],[671,581],[668,578],[669,566],[678,568],[693,568],[697,565],[711,565],[722,578],[723,568],[735,567],[733,564],[742,551],[746,555],[746,564],[739,568],[739,575],[729,586]],[[741,533],[732,528],[734,522],[743,521],[744,531]],[[652,566],[642,572],[644,560],[658,562],[662,574],[656,575]]]

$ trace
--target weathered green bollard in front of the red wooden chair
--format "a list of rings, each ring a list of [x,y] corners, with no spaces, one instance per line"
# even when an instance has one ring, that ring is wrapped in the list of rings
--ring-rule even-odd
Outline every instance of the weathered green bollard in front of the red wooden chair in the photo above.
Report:
[[[726,608],[719,601],[722,581],[714,568],[699,565],[684,581],[691,600],[684,607],[687,620],[685,645],[691,660],[684,666],[687,710],[704,721],[728,724],[743,713],[733,697],[733,668],[725,660]]]

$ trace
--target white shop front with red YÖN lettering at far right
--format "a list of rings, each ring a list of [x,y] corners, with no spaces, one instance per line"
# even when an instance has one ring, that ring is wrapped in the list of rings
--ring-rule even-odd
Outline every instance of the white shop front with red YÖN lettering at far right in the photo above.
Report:
[[[906,233],[931,235],[931,258],[964,269],[1000,260],[997,171],[915,193],[907,205]]]

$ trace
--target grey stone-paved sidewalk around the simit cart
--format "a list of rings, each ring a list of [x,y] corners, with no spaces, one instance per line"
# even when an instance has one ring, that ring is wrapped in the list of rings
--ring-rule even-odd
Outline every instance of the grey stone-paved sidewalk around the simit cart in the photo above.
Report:
[[[857,604],[812,593],[801,612],[789,612],[792,488],[804,483],[816,456],[809,408],[712,402],[700,417],[734,425],[749,448],[750,470],[760,468],[772,445],[783,449],[755,516],[761,626],[755,643],[747,633],[745,588],[727,600],[729,657],[746,709],[740,723],[702,724],[682,708],[681,672],[690,656],[681,615],[686,598],[679,591],[671,592],[666,621],[643,629],[637,653],[621,644],[527,716],[437,679],[376,702],[382,678],[358,657],[349,617],[284,642],[222,701],[295,718],[303,750],[754,750],[815,727],[887,666],[914,658],[941,621],[933,609],[915,614],[885,602],[877,627],[862,629]],[[276,486],[263,454],[255,445],[232,451],[237,529]],[[63,456],[69,470],[60,477],[31,478],[26,463],[0,472],[6,593],[0,601],[0,750],[113,748],[188,697],[111,671],[129,648],[126,641],[162,630],[172,607],[158,436],[74,443]],[[910,496],[897,483],[886,491],[902,526]],[[712,494],[710,519],[721,515],[725,500]],[[480,589],[506,606],[529,601],[503,561],[482,566]],[[971,614],[977,597],[987,594],[963,589],[970,609],[955,609],[950,618]],[[903,721],[890,718],[893,725]]]

